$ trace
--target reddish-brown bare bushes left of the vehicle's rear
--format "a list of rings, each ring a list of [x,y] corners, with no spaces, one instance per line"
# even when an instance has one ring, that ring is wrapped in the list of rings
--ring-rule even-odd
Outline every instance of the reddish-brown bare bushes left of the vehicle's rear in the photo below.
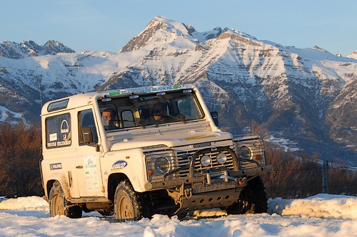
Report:
[[[41,194],[41,130],[19,125],[0,125],[1,192],[6,195]]]

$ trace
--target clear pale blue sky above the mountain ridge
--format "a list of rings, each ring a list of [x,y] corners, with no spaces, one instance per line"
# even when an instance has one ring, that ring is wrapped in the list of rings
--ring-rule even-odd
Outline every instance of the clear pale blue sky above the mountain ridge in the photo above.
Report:
[[[78,52],[118,52],[154,16],[200,32],[220,26],[283,46],[357,51],[356,0],[0,0],[0,11],[0,41],[56,40]]]

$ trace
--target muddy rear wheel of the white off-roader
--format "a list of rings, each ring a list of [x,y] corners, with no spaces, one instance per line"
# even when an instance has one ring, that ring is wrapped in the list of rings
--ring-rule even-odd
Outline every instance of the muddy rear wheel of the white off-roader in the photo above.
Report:
[[[59,181],[55,181],[49,192],[49,214],[51,217],[57,215],[69,218],[81,218],[81,206],[70,204],[64,197],[64,191]]]

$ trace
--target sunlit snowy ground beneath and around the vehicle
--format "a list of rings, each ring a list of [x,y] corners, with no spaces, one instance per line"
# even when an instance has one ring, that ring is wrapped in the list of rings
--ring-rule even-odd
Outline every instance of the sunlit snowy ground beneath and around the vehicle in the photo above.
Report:
[[[357,197],[277,198],[268,201],[268,214],[226,216],[211,210],[185,221],[155,215],[126,222],[96,212],[50,218],[48,204],[38,196],[0,198],[0,236],[357,236]]]

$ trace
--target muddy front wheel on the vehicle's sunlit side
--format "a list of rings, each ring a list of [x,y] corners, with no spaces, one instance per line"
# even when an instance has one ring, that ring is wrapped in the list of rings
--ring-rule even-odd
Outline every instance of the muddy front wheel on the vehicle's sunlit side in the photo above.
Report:
[[[134,191],[130,181],[121,181],[116,186],[114,196],[115,218],[119,220],[139,220],[150,217],[144,212],[146,204],[143,203],[141,195]]]

